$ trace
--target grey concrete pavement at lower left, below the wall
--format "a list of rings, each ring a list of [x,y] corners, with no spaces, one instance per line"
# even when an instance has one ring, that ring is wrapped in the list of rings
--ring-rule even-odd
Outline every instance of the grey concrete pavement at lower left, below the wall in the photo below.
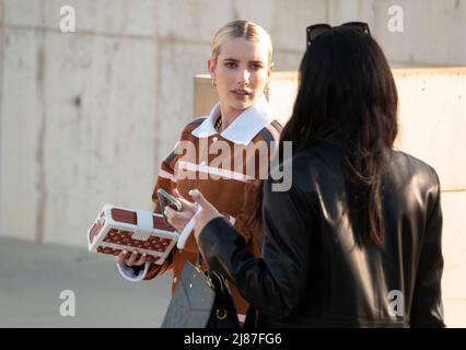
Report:
[[[0,237],[0,327],[159,327],[172,275],[124,280],[110,256]],[[75,316],[60,315],[60,292]]]

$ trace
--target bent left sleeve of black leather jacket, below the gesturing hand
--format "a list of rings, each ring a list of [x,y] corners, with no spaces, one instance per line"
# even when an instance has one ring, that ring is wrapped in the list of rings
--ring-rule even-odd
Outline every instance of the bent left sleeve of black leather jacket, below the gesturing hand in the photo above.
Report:
[[[259,312],[282,318],[292,313],[304,292],[312,219],[304,196],[298,190],[271,191],[270,186],[266,180],[264,258],[248,253],[244,238],[223,218],[205,226],[199,246],[210,269],[234,281],[241,294]]]

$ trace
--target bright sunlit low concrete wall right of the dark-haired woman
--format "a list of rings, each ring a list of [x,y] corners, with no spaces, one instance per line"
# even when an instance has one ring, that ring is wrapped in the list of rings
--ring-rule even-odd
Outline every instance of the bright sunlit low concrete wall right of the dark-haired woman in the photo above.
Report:
[[[442,184],[446,322],[466,327],[466,68],[400,70],[399,148],[435,167]]]

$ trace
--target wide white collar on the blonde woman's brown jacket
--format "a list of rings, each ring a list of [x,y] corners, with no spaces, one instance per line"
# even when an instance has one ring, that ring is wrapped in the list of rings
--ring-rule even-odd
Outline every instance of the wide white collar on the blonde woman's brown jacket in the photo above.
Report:
[[[213,106],[209,117],[191,131],[197,138],[207,138],[218,133],[213,124],[220,116],[220,103]],[[275,113],[265,96],[255,105],[245,109],[220,136],[234,143],[247,145],[268,124],[273,121]]]

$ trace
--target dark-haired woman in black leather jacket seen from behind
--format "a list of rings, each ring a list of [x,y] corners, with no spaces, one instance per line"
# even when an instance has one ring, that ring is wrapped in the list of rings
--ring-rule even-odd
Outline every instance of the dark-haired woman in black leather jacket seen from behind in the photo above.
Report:
[[[395,151],[397,91],[357,26],[308,36],[293,115],[292,186],[264,183],[264,256],[195,190],[195,235],[263,327],[443,327],[435,171]]]

